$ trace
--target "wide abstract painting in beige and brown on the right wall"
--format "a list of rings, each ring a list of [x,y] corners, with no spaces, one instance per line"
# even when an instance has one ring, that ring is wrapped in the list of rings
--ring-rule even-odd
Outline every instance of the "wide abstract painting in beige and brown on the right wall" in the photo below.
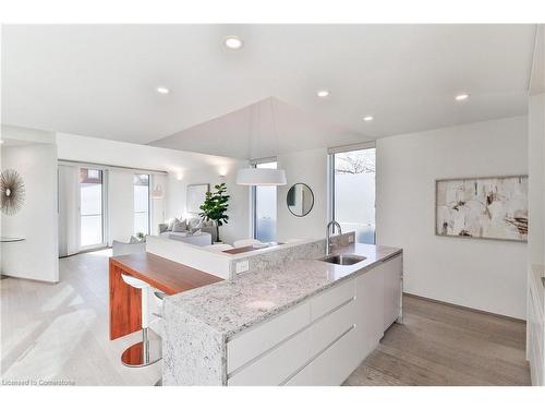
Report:
[[[528,176],[435,182],[436,234],[528,240]]]

